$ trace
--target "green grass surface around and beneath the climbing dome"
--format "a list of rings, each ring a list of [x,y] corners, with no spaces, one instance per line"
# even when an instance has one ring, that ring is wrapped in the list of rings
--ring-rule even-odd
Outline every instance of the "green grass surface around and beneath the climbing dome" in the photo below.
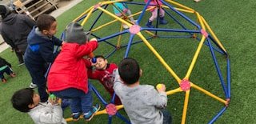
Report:
[[[91,5],[94,5],[99,1],[83,1],[72,9],[67,10],[64,14],[57,18],[58,20],[58,34],[60,36],[62,30],[65,29],[66,25],[71,22],[74,18],[82,14]],[[189,6],[194,10],[198,11],[208,22],[214,33],[218,36],[223,46],[226,48],[230,55],[231,63],[231,101],[230,106],[226,112],[218,118],[216,123],[256,123],[254,117],[255,112],[255,93],[254,93],[254,73],[256,55],[254,52],[256,31],[254,29],[256,14],[256,2],[249,0],[246,2],[237,1],[209,1],[202,0],[202,2],[181,1],[185,6]],[[142,8],[136,6],[130,6],[133,12],[137,12]],[[108,10],[111,11],[111,7]],[[88,29],[94,18],[97,17],[97,12],[88,20],[85,28]],[[173,13],[172,13],[173,14]],[[188,17],[194,19],[193,14],[186,14]],[[147,21],[150,14],[146,14],[142,18],[141,25]],[[179,18],[177,15],[174,15]],[[135,17],[138,18],[138,17]],[[170,18],[167,18],[170,20]],[[184,19],[181,22],[184,23],[188,28],[193,29]],[[96,26],[100,26],[102,23],[110,20],[108,15],[103,15],[100,18],[100,22]],[[102,28],[95,32],[100,37],[107,36],[118,32],[118,25],[111,25]],[[178,28],[178,25],[174,21],[169,22],[168,25],[172,28]],[[142,32],[142,34],[147,34]],[[159,33],[164,34],[164,33]],[[122,44],[128,41],[128,35],[125,34],[122,37]],[[138,39],[135,36],[135,39]],[[117,38],[110,40],[114,44],[117,42]],[[186,71],[190,66],[191,59],[194,56],[194,52],[197,49],[198,42],[194,39],[167,39],[167,38],[154,38],[150,40],[150,43],[158,53],[165,59],[166,63],[174,70],[178,77],[183,78],[186,75]],[[107,46],[106,43],[100,43],[98,50],[95,54],[107,54],[113,48]],[[126,49],[118,50],[113,56],[109,58],[109,62],[120,62],[123,58]],[[226,59],[220,54],[216,53],[218,62],[223,70],[223,75],[226,72]],[[14,71],[17,73],[16,78],[10,78],[6,75],[7,83],[0,84],[0,122],[1,123],[33,123],[32,119],[27,115],[14,110],[10,105],[10,97],[15,90],[27,87],[30,84],[30,75],[28,74],[25,66],[18,67],[18,60],[14,53],[10,50],[5,50],[0,53],[2,58],[13,65]],[[143,70],[143,75],[140,80],[142,84],[156,85],[159,82],[165,83],[167,90],[173,90],[178,88],[178,84],[175,79],[170,76],[164,66],[158,61],[154,54],[146,47],[144,43],[139,43],[131,47],[130,57],[136,58]],[[191,73],[190,80],[196,85],[209,90],[211,93],[218,95],[221,98],[225,98],[222,86],[219,83],[218,74],[214,68],[213,60],[210,56],[208,47],[203,46],[202,51],[198,56],[198,62],[194,66],[194,70]],[[226,80],[226,79],[225,79]],[[104,88],[98,83],[93,82],[94,86],[102,93],[102,96],[106,99],[109,98]],[[174,123],[180,123],[182,118],[182,106],[184,102],[184,93],[178,93],[168,96],[168,107],[174,118]],[[94,102],[99,102],[94,97]],[[216,101],[213,98],[202,94],[198,90],[192,89],[190,91],[190,102],[187,111],[186,123],[207,123],[218,111],[221,110],[223,104]],[[124,114],[122,110],[122,114]],[[70,116],[70,110],[65,111],[65,117]],[[91,122],[86,123],[107,123],[107,115],[96,116]],[[113,123],[122,123],[119,118],[114,118]],[[84,123],[84,121],[70,122],[70,123]]]

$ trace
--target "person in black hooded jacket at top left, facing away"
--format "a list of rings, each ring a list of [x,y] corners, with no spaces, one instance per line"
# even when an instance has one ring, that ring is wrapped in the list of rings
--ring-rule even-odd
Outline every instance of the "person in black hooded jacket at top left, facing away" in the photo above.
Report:
[[[14,14],[8,6],[0,5],[2,27],[0,33],[5,42],[11,46],[18,57],[18,66],[24,64],[23,55],[26,51],[27,36],[30,34],[35,22],[26,14]]]

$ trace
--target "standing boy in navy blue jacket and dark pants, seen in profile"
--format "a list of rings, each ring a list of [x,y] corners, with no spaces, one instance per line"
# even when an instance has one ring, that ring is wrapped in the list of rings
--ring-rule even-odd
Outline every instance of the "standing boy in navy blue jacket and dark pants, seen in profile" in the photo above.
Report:
[[[62,46],[62,41],[54,37],[56,32],[56,19],[48,14],[42,14],[38,17],[37,26],[34,26],[27,38],[25,65],[30,72],[32,82],[38,86],[41,102],[46,102],[48,99],[44,74],[47,65],[54,62],[58,55],[58,53],[53,54],[54,45]]]

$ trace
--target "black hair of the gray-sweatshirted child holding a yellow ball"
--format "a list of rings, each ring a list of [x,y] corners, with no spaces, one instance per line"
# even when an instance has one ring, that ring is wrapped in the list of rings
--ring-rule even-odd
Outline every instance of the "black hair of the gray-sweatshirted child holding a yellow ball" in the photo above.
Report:
[[[134,58],[124,58],[118,66],[120,78],[126,84],[134,84],[139,79],[139,66]]]

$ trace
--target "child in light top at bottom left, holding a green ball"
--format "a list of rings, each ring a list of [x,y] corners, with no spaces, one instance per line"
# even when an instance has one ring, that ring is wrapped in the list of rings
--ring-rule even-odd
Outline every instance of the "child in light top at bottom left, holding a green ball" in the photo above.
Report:
[[[28,113],[35,124],[66,124],[57,101],[49,99],[49,102],[41,103],[40,96],[30,88],[16,91],[11,98],[14,109]]]

